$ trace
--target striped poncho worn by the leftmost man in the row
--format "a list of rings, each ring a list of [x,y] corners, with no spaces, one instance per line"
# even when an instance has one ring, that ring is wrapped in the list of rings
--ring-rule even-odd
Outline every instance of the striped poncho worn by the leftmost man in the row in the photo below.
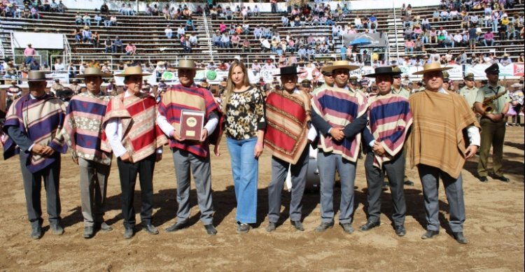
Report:
[[[14,101],[6,115],[3,131],[7,132],[8,127],[18,127],[33,143],[47,145],[56,152],[50,157],[34,155],[31,152],[20,153],[20,148],[17,148],[15,142],[8,138],[3,147],[4,159],[20,153],[27,157],[25,165],[31,173],[41,171],[55,162],[59,157],[57,152],[67,151],[67,145],[62,136],[65,113],[64,103],[48,94],[38,99],[31,99],[31,96],[26,94]]]

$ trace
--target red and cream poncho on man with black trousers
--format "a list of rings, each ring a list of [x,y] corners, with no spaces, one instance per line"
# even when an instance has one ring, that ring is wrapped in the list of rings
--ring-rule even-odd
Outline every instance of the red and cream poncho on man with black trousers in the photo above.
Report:
[[[160,130],[157,122],[157,103],[149,94],[139,93],[137,96],[124,97],[125,93],[113,97],[106,108],[102,121],[105,127],[109,120],[120,119],[123,125],[124,148],[130,154],[132,162],[139,162],[153,153],[157,148],[167,143],[167,138]],[[102,134],[101,149],[111,152],[106,134]]]

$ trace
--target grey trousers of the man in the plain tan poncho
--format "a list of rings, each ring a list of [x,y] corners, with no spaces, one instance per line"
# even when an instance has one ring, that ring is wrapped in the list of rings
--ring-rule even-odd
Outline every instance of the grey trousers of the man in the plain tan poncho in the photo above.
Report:
[[[425,199],[426,229],[438,231],[440,229],[440,200],[437,192],[440,187],[440,178],[443,180],[444,192],[449,201],[449,226],[454,232],[463,231],[465,222],[465,201],[463,200],[463,178],[452,178],[440,169],[419,164],[417,166],[419,178],[423,185],[423,197]]]

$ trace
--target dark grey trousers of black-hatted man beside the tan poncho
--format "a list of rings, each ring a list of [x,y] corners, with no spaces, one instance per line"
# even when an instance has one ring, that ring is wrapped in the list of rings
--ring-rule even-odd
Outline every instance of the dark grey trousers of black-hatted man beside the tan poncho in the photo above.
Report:
[[[367,184],[368,221],[379,222],[381,218],[381,192],[384,182],[384,172],[388,174],[388,182],[392,194],[392,220],[395,226],[405,224],[407,204],[403,190],[405,180],[405,155],[401,152],[391,161],[383,164],[382,169],[374,166],[374,153],[367,152],[365,159],[365,174]]]

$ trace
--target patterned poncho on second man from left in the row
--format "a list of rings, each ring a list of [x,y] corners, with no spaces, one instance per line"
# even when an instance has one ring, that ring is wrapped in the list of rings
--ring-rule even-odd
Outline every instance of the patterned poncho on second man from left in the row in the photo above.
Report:
[[[109,96],[83,92],[73,96],[67,106],[64,129],[67,144],[74,158],[83,158],[110,165],[111,153],[101,149],[102,120],[106,115]]]

